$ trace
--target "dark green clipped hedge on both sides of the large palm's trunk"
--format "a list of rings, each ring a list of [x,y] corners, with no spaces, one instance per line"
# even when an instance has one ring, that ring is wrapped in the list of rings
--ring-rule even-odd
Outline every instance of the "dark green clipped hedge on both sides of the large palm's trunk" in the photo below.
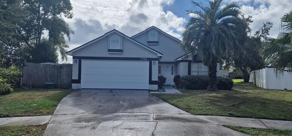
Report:
[[[209,84],[209,77],[204,75],[185,75],[181,80],[187,81],[186,89],[204,90]],[[230,78],[217,77],[218,90],[231,90],[233,81]]]

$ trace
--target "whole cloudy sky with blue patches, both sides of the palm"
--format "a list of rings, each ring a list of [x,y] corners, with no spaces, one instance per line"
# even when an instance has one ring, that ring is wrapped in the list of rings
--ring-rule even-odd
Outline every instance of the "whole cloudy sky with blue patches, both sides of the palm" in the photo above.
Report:
[[[194,0],[201,1],[201,0]],[[251,29],[257,31],[263,22],[272,22],[270,37],[281,31],[279,18],[292,8],[292,0],[232,0],[240,3],[245,15],[253,16]],[[206,2],[202,0],[201,2]],[[224,2],[230,2],[225,0]],[[185,10],[191,0],[71,0],[74,17],[65,19],[75,31],[68,42],[74,49],[104,33],[117,29],[133,36],[151,26],[180,39],[184,24],[189,19]],[[72,56],[68,56],[72,63]],[[59,63],[63,63],[59,57]]]

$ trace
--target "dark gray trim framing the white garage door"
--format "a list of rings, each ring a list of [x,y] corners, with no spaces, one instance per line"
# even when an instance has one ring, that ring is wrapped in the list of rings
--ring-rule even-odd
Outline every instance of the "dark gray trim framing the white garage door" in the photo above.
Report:
[[[158,81],[152,81],[152,61],[158,61],[158,58],[147,58],[146,60],[141,60],[141,58],[133,58],[133,57],[73,56],[73,59],[78,59],[78,80],[73,80],[72,79],[71,80],[72,84],[80,84],[81,83],[81,63],[82,63],[82,59],[91,59],[91,60],[133,60],[133,61],[149,61],[149,84],[156,84],[156,85],[158,84]]]

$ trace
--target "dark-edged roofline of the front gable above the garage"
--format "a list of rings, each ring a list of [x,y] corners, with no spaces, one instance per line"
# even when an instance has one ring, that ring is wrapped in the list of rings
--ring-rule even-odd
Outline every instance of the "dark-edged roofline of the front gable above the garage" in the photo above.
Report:
[[[105,38],[106,36],[108,36],[109,34],[114,33],[114,32],[116,32],[116,33],[120,34],[121,36],[127,38],[128,40],[131,40],[132,42],[134,42],[134,43],[136,43],[136,44],[138,44],[138,45],[140,45],[140,46],[142,46],[142,47],[144,47],[144,48],[156,53],[157,56],[162,56],[163,55],[162,53],[160,53],[160,52],[158,52],[158,51],[156,51],[156,50],[154,50],[154,49],[152,49],[152,48],[150,48],[150,47],[138,42],[137,40],[134,40],[133,38],[131,38],[129,36],[126,36],[124,33],[121,33],[120,31],[118,31],[116,29],[113,29],[112,31],[109,31],[109,32],[105,33],[104,35],[102,35],[102,36],[100,36],[98,38],[95,38],[95,39],[93,39],[93,40],[91,40],[91,41],[89,41],[89,42],[87,42],[87,43],[85,43],[85,44],[83,44],[83,45],[81,45],[79,47],[76,47],[76,48],[66,52],[66,54],[67,55],[72,55],[72,52],[75,52],[75,51],[77,51],[77,50],[79,50],[79,49],[81,49],[83,47],[86,47],[87,45],[90,45],[91,43],[94,43],[94,42],[96,42],[96,41],[98,41],[98,40],[100,40],[102,38]]]

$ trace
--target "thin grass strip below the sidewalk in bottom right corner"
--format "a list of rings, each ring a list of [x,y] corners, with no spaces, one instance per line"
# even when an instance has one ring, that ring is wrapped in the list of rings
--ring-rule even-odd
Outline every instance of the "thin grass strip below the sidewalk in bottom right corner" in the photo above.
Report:
[[[227,126],[227,128],[245,133],[251,136],[292,136],[291,130],[271,129],[271,128],[247,128],[239,126]]]

